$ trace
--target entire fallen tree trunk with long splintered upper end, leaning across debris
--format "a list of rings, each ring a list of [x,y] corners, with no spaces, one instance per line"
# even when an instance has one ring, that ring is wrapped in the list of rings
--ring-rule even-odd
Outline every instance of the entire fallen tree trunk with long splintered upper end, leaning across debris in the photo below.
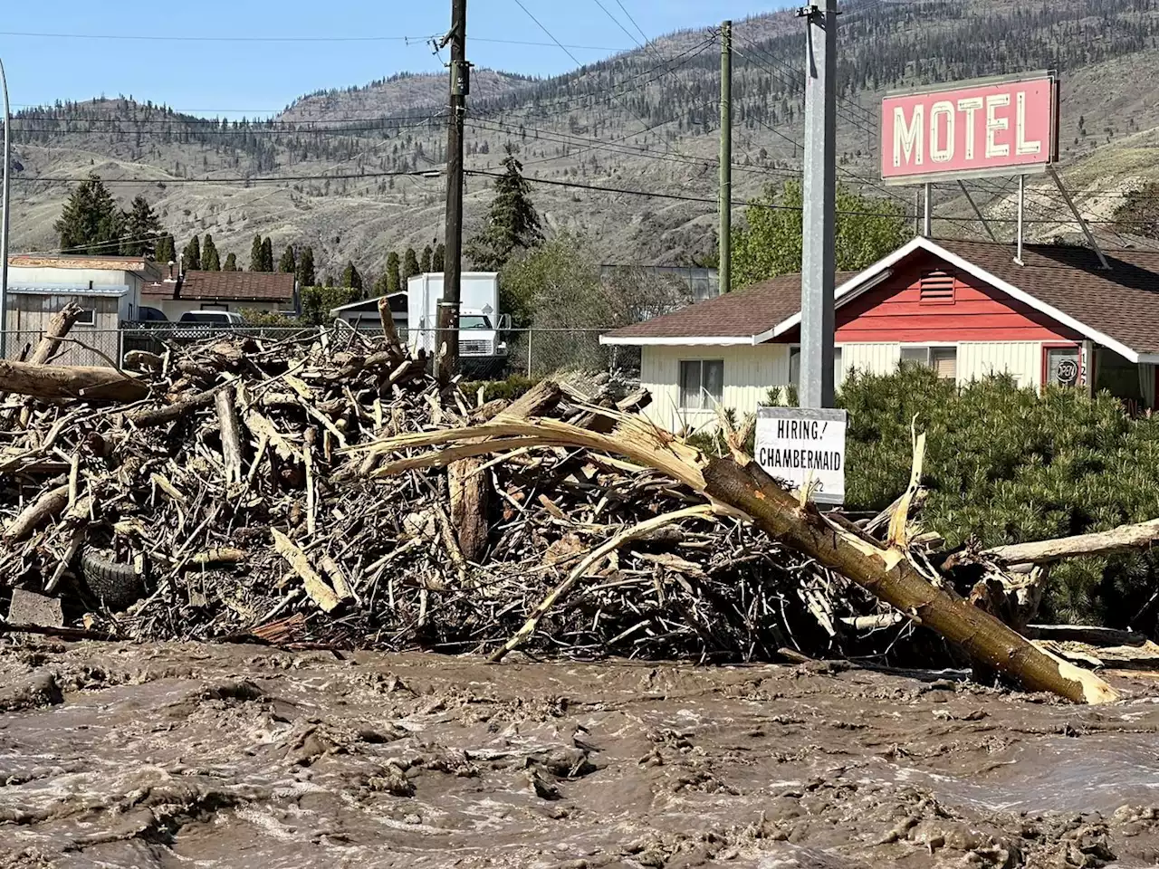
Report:
[[[615,416],[614,411],[608,411]],[[1117,692],[1094,673],[1086,672],[1036,649],[1025,637],[969,603],[931,585],[898,549],[884,549],[826,521],[815,507],[802,507],[751,460],[713,459],[648,423],[625,416],[614,432],[602,434],[552,419],[522,422],[500,417],[495,423],[458,430],[418,432],[386,438],[372,452],[404,447],[455,444],[406,460],[406,467],[443,465],[449,459],[480,454],[480,438],[518,438],[524,446],[581,446],[627,455],[649,465],[695,491],[719,507],[751,518],[774,539],[788,543],[858,583],[911,619],[960,645],[979,663],[1019,680],[1030,691],[1049,691],[1074,702],[1106,703]],[[462,444],[460,441],[475,441]],[[503,447],[497,447],[503,448]],[[385,466],[378,475],[400,469]]]

